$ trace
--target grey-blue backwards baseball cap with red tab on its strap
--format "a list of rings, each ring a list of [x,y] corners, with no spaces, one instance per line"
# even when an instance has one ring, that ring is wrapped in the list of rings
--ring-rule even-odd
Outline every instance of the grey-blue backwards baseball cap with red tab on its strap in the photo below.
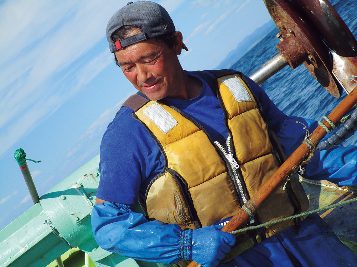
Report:
[[[112,40],[112,34],[122,26],[137,26],[140,33]],[[149,40],[175,31],[175,25],[169,13],[159,4],[150,1],[129,2],[111,17],[107,25],[107,40],[110,52],[114,53],[134,43]],[[187,47],[182,43],[182,48]]]

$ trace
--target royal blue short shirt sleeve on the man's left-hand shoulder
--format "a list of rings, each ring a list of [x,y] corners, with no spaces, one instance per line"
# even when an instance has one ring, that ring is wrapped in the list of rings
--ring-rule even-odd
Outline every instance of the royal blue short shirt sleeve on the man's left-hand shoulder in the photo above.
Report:
[[[159,147],[142,124],[123,107],[109,124],[100,145],[97,197],[134,204],[164,167]]]

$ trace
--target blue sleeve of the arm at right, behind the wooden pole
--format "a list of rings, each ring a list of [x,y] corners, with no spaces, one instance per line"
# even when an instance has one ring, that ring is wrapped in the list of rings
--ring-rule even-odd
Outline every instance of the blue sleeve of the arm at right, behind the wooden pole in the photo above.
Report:
[[[249,77],[245,77],[251,86],[270,129],[274,131],[283,151],[290,156],[305,138],[305,126],[311,133],[318,126],[317,121],[296,116],[286,116],[269,99],[263,89]],[[297,123],[298,122],[298,123]],[[326,135],[325,140],[330,135]],[[329,150],[315,151],[311,161],[303,165],[305,177],[311,180],[329,180],[338,185],[357,185],[357,147],[337,145]]]

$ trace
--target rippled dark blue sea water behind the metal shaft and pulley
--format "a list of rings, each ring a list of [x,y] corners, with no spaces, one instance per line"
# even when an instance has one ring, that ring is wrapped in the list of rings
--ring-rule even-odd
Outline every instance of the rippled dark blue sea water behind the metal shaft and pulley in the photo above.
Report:
[[[330,3],[357,37],[355,0],[331,0]],[[231,68],[248,75],[262,66],[278,53],[276,45],[279,40],[275,37],[278,32],[278,28],[269,32]],[[322,120],[322,116],[330,114],[346,96],[345,92],[339,99],[330,95],[303,65],[294,70],[289,66],[284,67],[262,83],[261,87],[285,114],[313,120]],[[345,146],[351,144],[357,145],[357,133],[343,143]]]

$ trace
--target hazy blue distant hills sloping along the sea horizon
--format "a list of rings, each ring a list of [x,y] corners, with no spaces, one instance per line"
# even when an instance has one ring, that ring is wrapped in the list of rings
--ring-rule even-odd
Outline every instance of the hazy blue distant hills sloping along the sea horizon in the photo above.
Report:
[[[260,40],[262,40],[268,32],[270,32],[275,26],[275,23],[270,20],[257,28],[253,33],[248,35],[238,43],[238,46],[228,53],[228,56],[221,61],[216,69],[229,69],[237,62],[245,53],[247,53],[253,46],[255,46]]]

